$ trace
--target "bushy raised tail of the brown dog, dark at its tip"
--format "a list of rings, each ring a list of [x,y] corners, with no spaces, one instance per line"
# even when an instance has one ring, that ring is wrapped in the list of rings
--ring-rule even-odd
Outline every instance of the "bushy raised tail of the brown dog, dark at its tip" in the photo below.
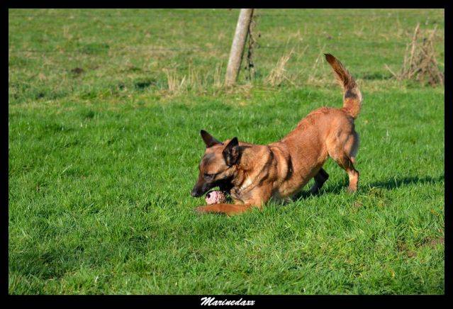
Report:
[[[360,108],[362,106],[362,94],[357,86],[354,78],[347,72],[343,64],[330,54],[324,54],[335,73],[337,82],[343,88],[343,111],[352,118],[359,116]]]

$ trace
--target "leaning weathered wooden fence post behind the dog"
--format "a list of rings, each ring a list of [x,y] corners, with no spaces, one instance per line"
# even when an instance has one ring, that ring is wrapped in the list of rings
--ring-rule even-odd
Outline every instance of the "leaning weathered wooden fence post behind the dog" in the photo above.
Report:
[[[225,76],[226,86],[231,86],[236,82],[237,74],[239,73],[240,64],[242,62],[242,54],[244,53],[245,40],[247,39],[250,21],[252,20],[252,14],[253,9],[240,9]]]

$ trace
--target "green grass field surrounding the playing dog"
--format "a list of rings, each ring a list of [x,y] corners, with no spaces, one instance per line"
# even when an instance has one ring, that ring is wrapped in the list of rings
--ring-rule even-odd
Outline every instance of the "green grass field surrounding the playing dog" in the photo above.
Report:
[[[257,10],[255,78],[223,89],[237,13],[9,11],[9,293],[444,293],[444,88],[385,67],[417,23],[442,65],[444,11]],[[199,130],[264,144],[341,106],[322,52],[364,95],[359,191],[328,161],[318,196],[196,215]]]

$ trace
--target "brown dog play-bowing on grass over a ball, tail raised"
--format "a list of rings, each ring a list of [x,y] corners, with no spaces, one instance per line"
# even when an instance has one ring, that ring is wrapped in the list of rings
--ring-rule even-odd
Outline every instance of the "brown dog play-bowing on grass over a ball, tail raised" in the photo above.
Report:
[[[343,88],[342,108],[322,107],[312,111],[282,140],[269,145],[238,142],[237,137],[220,142],[201,130],[206,151],[191,195],[202,196],[219,186],[230,193],[234,204],[198,207],[198,212],[233,215],[253,206],[262,208],[270,198],[296,196],[313,177],[315,184],[311,192],[317,193],[329,177],[323,169],[328,157],[347,172],[348,191],[357,191],[359,172],[353,164],[359,135],[354,130],[354,119],[360,111],[362,94],[335,57],[326,54],[325,59]]]

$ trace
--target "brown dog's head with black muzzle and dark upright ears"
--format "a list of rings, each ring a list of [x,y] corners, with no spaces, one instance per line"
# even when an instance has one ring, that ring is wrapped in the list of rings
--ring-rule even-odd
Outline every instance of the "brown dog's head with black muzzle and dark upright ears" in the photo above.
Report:
[[[240,159],[237,137],[220,142],[205,130],[201,130],[200,133],[206,144],[206,150],[198,165],[200,173],[191,196],[202,196],[215,186],[219,186],[223,191],[230,190],[235,165]]]

